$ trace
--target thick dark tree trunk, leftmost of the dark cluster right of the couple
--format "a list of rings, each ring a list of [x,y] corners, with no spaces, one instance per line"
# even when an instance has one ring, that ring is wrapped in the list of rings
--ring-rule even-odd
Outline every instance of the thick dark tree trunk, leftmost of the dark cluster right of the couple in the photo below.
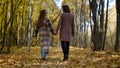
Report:
[[[91,8],[91,11],[92,11],[92,14],[93,14],[93,17],[92,17],[92,20],[93,20],[93,23],[94,23],[94,27],[93,27],[93,32],[92,32],[92,42],[93,42],[93,50],[96,51],[96,50],[99,50],[98,46],[97,46],[97,43],[98,43],[98,38],[99,38],[99,35],[98,35],[98,20],[97,20],[97,2],[96,0],[92,0],[90,1],[90,8]],[[94,7],[93,7],[94,6]]]

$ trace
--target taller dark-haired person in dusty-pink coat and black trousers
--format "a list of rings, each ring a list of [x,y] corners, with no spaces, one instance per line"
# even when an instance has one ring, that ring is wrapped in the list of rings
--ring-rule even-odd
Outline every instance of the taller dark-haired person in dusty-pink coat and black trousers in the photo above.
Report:
[[[62,9],[63,13],[60,16],[56,33],[58,33],[58,30],[60,29],[60,41],[64,54],[64,61],[69,57],[69,45],[74,36],[74,15],[70,13],[68,5],[62,6]]]

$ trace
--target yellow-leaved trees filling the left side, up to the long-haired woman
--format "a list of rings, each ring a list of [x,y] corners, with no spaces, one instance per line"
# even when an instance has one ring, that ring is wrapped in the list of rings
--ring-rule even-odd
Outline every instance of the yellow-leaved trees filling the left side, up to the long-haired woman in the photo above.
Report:
[[[30,0],[0,1],[0,53],[10,53],[11,47],[15,45],[33,45],[32,33],[41,9],[46,9],[48,17],[56,21],[54,19],[58,17],[59,11],[55,10],[58,8],[52,0],[32,0],[32,3]]]

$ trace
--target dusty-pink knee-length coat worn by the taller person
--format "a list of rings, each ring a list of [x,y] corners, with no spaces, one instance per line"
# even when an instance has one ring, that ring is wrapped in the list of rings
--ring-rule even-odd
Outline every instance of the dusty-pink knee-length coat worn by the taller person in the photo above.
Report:
[[[74,16],[71,13],[62,13],[56,32],[60,29],[60,40],[71,41],[74,36]]]

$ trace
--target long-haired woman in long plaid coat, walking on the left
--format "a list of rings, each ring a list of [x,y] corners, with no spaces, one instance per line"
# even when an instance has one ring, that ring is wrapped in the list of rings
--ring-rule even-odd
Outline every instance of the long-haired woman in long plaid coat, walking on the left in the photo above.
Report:
[[[37,21],[35,37],[37,34],[40,35],[40,45],[41,45],[41,56],[43,60],[46,60],[46,55],[49,53],[50,49],[50,32],[55,34],[50,20],[47,18],[46,10],[41,10]]]

